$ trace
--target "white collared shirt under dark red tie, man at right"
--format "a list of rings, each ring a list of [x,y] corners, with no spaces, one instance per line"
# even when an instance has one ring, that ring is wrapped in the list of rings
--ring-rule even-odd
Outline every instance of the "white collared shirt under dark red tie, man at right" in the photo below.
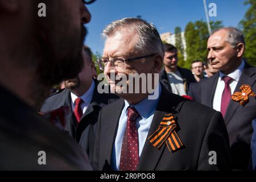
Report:
[[[245,61],[242,60],[242,63],[240,66],[233,71],[232,73],[229,73],[229,77],[233,78],[233,81],[229,84],[230,89],[231,89],[231,94],[234,93],[234,90],[236,89],[238,80],[240,79],[242,75],[243,68],[245,68]],[[213,109],[220,111],[221,110],[221,97],[222,97],[222,92],[225,89],[225,82],[221,80],[223,76],[226,76],[224,73],[219,71],[219,77],[218,77],[218,82],[213,98]]]

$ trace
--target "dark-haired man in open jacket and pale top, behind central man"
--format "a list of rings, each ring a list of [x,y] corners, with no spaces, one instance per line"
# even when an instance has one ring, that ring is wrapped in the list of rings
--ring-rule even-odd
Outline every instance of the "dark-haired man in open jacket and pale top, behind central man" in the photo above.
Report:
[[[164,43],[164,68],[160,72],[160,82],[170,92],[179,96],[187,95],[189,84],[196,82],[189,69],[177,66],[177,48]]]

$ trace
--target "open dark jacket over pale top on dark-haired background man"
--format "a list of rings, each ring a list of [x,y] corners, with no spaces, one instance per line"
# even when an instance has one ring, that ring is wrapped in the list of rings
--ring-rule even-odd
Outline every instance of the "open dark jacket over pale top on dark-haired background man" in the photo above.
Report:
[[[195,77],[191,73],[189,69],[180,68],[177,67],[177,70],[180,72],[180,75],[183,77],[183,84],[185,85],[185,92],[188,93],[189,90],[189,84],[196,82]],[[170,92],[172,93],[172,88],[169,83],[167,73],[165,69],[162,69],[162,71],[159,74],[159,80],[162,83],[162,85]]]

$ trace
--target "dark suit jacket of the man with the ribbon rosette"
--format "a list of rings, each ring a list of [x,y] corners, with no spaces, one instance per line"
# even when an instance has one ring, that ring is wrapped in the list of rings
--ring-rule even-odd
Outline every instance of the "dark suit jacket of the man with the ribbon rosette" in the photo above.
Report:
[[[193,93],[196,101],[213,107],[213,97],[216,90],[219,74],[200,81],[197,85],[199,92]],[[241,92],[240,87],[248,84],[256,92],[256,68],[245,65],[240,80],[234,92]],[[197,99],[199,98],[199,99]],[[234,169],[247,169],[250,159],[250,141],[253,128],[251,121],[256,118],[256,100],[250,97],[249,103],[241,106],[231,100],[225,115],[225,123],[229,133],[232,163]]]

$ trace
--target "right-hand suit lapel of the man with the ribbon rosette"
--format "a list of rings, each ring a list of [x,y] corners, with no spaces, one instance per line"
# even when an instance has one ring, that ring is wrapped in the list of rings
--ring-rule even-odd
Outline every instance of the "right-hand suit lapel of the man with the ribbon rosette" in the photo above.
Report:
[[[246,65],[245,69],[242,72],[240,79],[238,80],[238,83],[237,83],[236,89],[234,90],[234,93],[241,92],[240,87],[243,84],[247,84],[252,87],[255,84],[255,81],[256,81],[255,72],[253,72],[252,69],[250,69],[249,65]],[[225,115],[225,119],[224,119],[226,125],[228,125],[228,123],[232,119],[234,113],[236,113],[238,106],[240,106],[240,104],[236,101],[231,100],[229,102],[229,106],[228,106],[228,109],[226,110],[226,115]]]

